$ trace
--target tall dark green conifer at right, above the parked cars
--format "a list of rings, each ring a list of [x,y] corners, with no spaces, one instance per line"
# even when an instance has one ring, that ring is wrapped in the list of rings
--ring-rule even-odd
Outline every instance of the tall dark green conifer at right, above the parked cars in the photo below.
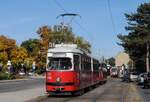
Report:
[[[123,46],[135,64],[146,62],[149,71],[149,44],[150,44],[150,3],[141,4],[136,13],[125,14],[128,20],[128,35],[118,35]],[[138,67],[138,66],[137,66]],[[144,66],[143,66],[144,67]]]

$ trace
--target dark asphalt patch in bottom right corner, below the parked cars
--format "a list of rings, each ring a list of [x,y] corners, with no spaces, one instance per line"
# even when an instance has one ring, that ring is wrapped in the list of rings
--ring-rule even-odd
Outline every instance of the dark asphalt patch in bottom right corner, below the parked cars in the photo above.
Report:
[[[150,88],[144,89],[143,86],[138,86],[138,90],[143,102],[150,102]]]

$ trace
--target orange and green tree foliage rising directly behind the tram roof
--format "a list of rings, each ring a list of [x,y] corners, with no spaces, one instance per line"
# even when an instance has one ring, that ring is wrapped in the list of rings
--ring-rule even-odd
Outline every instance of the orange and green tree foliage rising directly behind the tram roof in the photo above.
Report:
[[[41,45],[43,50],[47,52],[49,44],[69,43],[77,44],[78,47],[91,53],[91,44],[82,37],[75,37],[71,27],[64,25],[55,25],[53,28],[49,26],[40,27],[37,31],[40,35]]]

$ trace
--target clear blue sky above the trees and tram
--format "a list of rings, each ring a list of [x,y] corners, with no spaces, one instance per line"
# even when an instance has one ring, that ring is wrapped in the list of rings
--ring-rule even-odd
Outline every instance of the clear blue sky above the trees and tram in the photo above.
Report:
[[[64,18],[74,34],[92,44],[94,56],[115,57],[123,51],[117,45],[117,35],[128,34],[124,13],[135,13],[145,2],[150,0],[0,0],[0,35],[15,39],[19,45],[39,38],[39,27],[60,24],[63,19],[56,19],[58,15],[77,13],[81,18],[74,17],[71,23],[71,17]]]

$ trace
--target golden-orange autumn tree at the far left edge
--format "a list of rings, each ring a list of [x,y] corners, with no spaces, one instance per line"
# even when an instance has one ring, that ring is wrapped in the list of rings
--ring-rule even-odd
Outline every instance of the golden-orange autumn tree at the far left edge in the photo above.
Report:
[[[21,63],[24,63],[28,53],[25,48],[16,45],[14,39],[4,35],[0,36],[0,63],[6,68],[7,61],[10,60],[15,69],[19,70]]]

